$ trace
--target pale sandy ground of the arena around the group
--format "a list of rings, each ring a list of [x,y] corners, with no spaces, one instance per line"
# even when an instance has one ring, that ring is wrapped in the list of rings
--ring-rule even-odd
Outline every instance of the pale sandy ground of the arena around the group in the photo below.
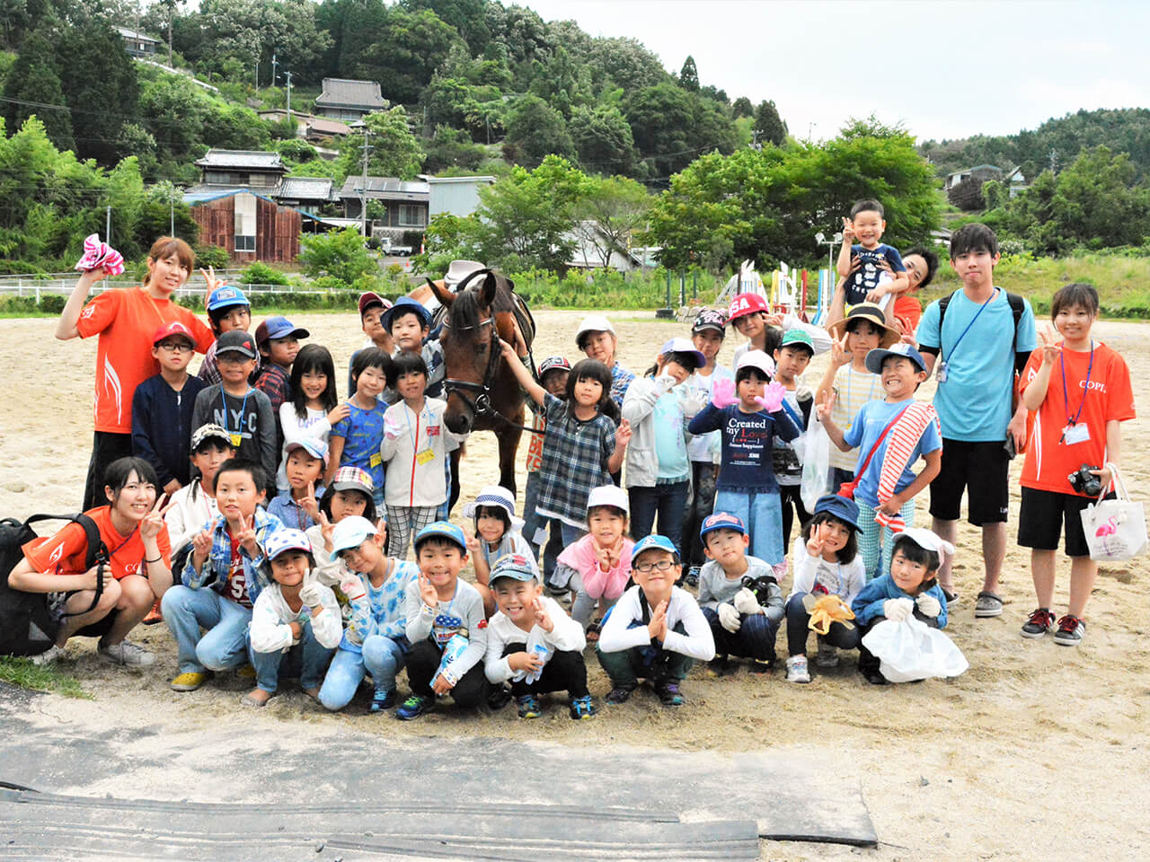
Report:
[[[538,313],[536,357],[558,352],[577,357],[574,332],[581,316]],[[651,364],[665,339],[685,334],[683,324],[652,317],[612,315],[620,359],[632,370]],[[293,318],[312,331],[314,341],[331,348],[337,368],[346,367],[347,356],[362,341],[354,314]],[[54,325],[49,320],[0,321],[0,369],[12,395],[0,418],[0,514],[5,516],[75,509],[82,497],[95,343],[55,341]],[[1145,415],[1150,329],[1103,323],[1098,332],[1129,362],[1138,408]],[[720,361],[730,361],[737,341],[737,336],[729,339]],[[825,357],[812,363],[807,372],[812,385],[823,363]],[[922,394],[929,391],[925,386]],[[1135,495],[1150,484],[1147,428],[1144,418],[1124,426],[1122,463]],[[494,438],[489,433],[473,438],[465,464],[461,499],[466,501],[497,478]],[[1019,469],[1015,464],[1015,478]],[[920,524],[927,522],[925,505],[920,501]],[[1012,534],[1017,514],[1015,486]],[[291,722],[301,728],[301,737],[354,726],[385,737],[477,734],[573,746],[773,748],[788,756],[810,754],[812,762],[825,762],[830,754],[836,764],[830,768],[833,775],[861,786],[881,839],[879,849],[764,842],[766,859],[1006,860],[1080,852],[1121,860],[1143,855],[1138,851],[1150,846],[1143,816],[1150,807],[1145,732],[1150,565],[1145,557],[1103,569],[1084,642],[1063,648],[1049,639],[1019,637],[1019,626],[1034,606],[1028,554],[1011,542],[1002,590],[1005,613],[976,622],[971,600],[982,577],[977,532],[964,525],[960,546],[956,577],[963,601],[952,610],[948,631],[966,653],[971,670],[952,682],[874,688],[851,661],[818,674],[808,686],[787,685],[781,670],[751,677],[739,669],[719,679],[697,669],[684,686],[688,703],[675,711],[661,709],[653,695],[641,693],[626,707],[604,710],[589,723],[570,722],[562,705],[553,700],[545,717],[530,723],[520,722],[514,709],[505,709],[481,716],[446,710],[402,724],[368,715],[362,695],[346,713],[325,715],[291,688],[262,715],[253,716],[240,711],[238,700],[246,685],[233,677],[217,678],[192,694],[174,694],[167,682],[175,653],[163,626],[137,630],[133,636],[159,654],[153,670],[112,669],[94,657],[90,642],[70,645],[74,663],[63,667],[86,680],[101,713],[121,716],[125,725],[141,716],[154,722],[160,714],[160,721],[172,726],[208,728],[227,717],[229,723],[253,723],[285,737],[292,731],[284,722]],[[1067,582],[1068,565],[1063,562],[1058,614],[1065,613]],[[780,651],[785,653],[782,642]],[[593,659],[588,663],[591,691],[601,696],[607,679]],[[812,667],[812,672],[818,669]]]

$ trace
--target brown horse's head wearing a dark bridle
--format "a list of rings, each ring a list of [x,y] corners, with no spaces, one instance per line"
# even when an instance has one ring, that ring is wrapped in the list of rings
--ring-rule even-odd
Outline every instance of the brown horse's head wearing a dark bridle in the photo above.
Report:
[[[498,277],[491,270],[480,270],[460,285],[466,285],[460,293],[452,293],[435,282],[428,284],[447,309],[439,333],[446,371],[444,398],[447,400],[443,421],[452,433],[469,433],[477,416],[490,407],[491,378],[499,362],[494,309]]]

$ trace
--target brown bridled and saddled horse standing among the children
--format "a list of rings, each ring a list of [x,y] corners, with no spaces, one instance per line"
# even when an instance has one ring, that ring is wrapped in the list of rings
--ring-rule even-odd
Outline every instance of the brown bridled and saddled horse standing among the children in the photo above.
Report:
[[[428,282],[446,309],[439,333],[446,372],[444,423],[454,433],[494,431],[499,440],[499,484],[515,493],[515,452],[522,434],[526,395],[504,363],[499,339],[515,343],[515,329],[528,349],[535,338],[535,321],[515,295],[514,283],[490,269],[468,276],[452,293]],[[451,502],[459,499],[459,455],[451,463]]]

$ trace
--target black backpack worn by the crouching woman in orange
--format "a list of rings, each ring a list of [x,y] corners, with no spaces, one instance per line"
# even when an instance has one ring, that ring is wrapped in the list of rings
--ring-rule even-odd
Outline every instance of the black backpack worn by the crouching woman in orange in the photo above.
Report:
[[[46,593],[25,593],[8,586],[8,575],[24,559],[21,548],[37,538],[32,524],[37,521],[71,521],[84,528],[87,537],[87,555],[84,570],[100,567],[95,598],[87,610],[69,616],[86,614],[100,601],[103,592],[103,567],[108,562],[108,548],[100,538],[100,528],[87,515],[32,515],[21,523],[16,518],[0,521],[0,655],[39,655],[56,640],[59,622],[48,608]]]

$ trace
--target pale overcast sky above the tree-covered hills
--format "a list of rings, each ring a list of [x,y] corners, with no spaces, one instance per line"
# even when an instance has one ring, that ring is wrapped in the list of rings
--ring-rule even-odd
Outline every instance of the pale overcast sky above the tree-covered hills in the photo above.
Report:
[[[1079,109],[1150,107],[1150,3],[1096,0],[519,0],[591,36],[638,39],[758,103],[791,134],[851,116],[922,140],[1012,134]],[[505,5],[511,5],[505,0]]]

